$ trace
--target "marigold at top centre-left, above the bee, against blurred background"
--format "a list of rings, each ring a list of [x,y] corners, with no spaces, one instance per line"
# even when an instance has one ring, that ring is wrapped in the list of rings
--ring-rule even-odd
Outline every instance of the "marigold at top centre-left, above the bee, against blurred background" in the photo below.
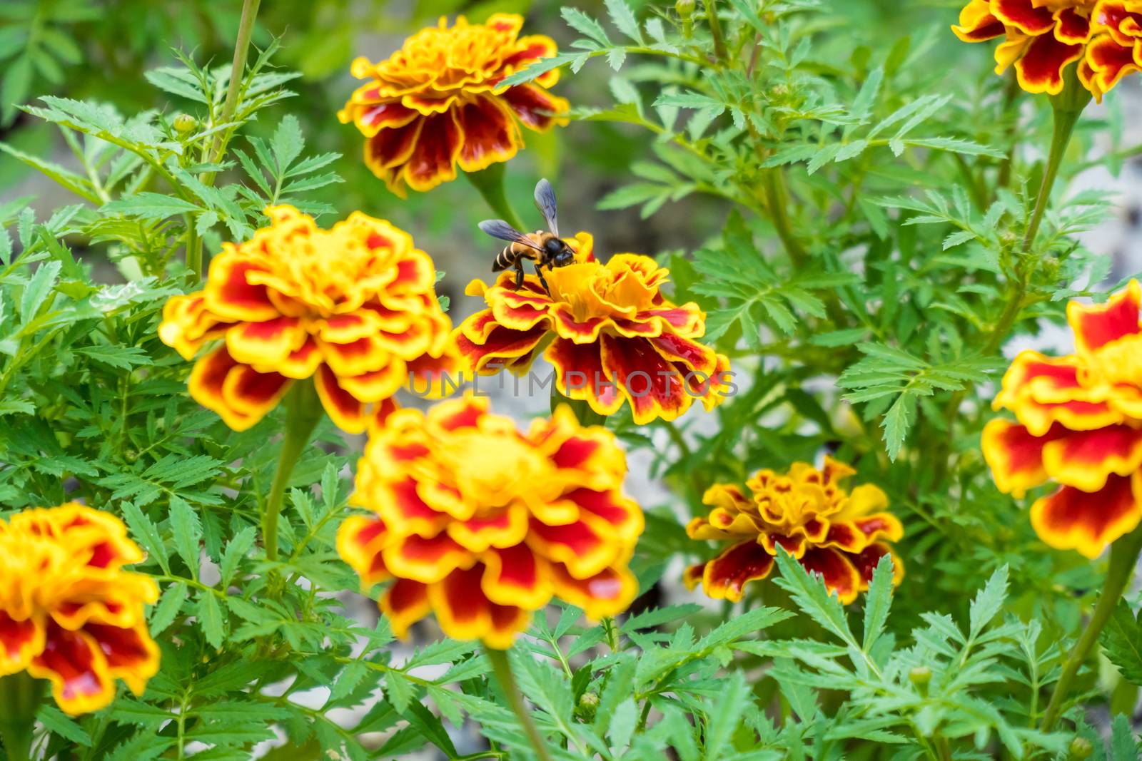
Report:
[[[557,51],[548,37],[518,37],[522,26],[516,14],[483,24],[459,16],[453,26],[441,17],[387,59],[353,62],[353,75],[369,81],[337,115],[368,138],[364,162],[389,189],[428,191],[456,179],[457,163],[474,172],[508,161],[523,147],[521,123],[536,131],[566,124],[568,102],[548,92],[558,70],[500,84]]]

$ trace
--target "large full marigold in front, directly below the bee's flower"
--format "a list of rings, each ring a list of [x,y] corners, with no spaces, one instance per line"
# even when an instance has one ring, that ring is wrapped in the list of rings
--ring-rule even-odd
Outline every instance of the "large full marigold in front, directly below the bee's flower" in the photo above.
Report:
[[[380,598],[393,631],[436,613],[444,633],[507,648],[553,597],[590,618],[635,597],[627,561],[643,529],[621,493],[626,458],[564,405],[521,434],[486,399],[394,412],[373,432],[337,549]]]

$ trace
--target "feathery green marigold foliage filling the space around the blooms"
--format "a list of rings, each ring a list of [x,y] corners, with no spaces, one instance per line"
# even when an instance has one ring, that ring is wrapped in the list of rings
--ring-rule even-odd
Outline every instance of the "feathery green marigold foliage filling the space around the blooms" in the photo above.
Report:
[[[661,431],[606,421],[670,489],[644,505],[634,566],[650,594],[600,624],[573,607],[541,612],[512,653],[516,679],[556,759],[1063,759],[1076,737],[1091,758],[1136,758],[1136,604],[1120,602],[1103,632],[1112,673],[1080,673],[1073,729],[1036,729],[1101,566],[1045,551],[979,456],[1003,347],[1061,322],[1067,299],[1107,290],[1109,258],[1076,234],[1110,200],[1064,186],[1093,165],[1119,169],[1128,152],[1094,154],[1085,133],[1116,112],[1084,115],[1035,230],[1045,102],[951,47],[950,13],[925,8],[931,23],[890,37],[899,27],[876,3],[834,5],[844,3],[564,8],[578,39],[508,81],[563,66],[584,94],[568,131],[628,138],[612,141],[625,147],[611,163],[630,176],[598,199],[608,219],[629,209],[650,235],[698,210],[657,253],[674,299],[702,306],[705,340],[737,373],[725,404],[659,421]],[[311,97],[313,78],[345,89],[325,79],[331,43],[314,31],[283,51],[256,38],[226,122],[227,64],[162,54],[140,80],[135,57],[119,86],[142,98],[150,84],[162,105],[120,110],[113,94],[66,87],[99,47],[96,10],[75,0],[0,11],[2,119],[53,126],[69,155],[45,157],[13,133],[0,151],[73,196],[40,219],[24,199],[0,204],[0,502],[7,512],[81,499],[124,519],[147,553],[138,568],[162,589],[150,612],[162,671],[144,695],[123,690],[91,715],[42,707],[42,758],[363,760],[428,746],[529,758],[477,645],[410,648],[355,613],[359,580],[335,534],[359,445],[319,427],[270,561],[259,517],[283,413],[231,431],[186,396],[188,367],[155,333],[167,299],[193,290],[196,264],[249,237],[267,204],[339,218],[352,210],[344,191],[403,213],[364,185],[355,157],[307,149],[329,145],[321,130],[335,121]],[[177,25],[180,13],[155,17]],[[202,24],[230,30],[232,14],[211,7]],[[308,80],[278,68],[283,56]],[[569,176],[584,171],[566,163]],[[415,237],[448,248],[439,229]],[[709,554],[682,529],[706,487],[822,451],[885,488],[904,520],[899,589],[884,558],[846,610],[779,553],[779,578],[756,582],[739,607],[656,607],[678,586],[679,558]],[[1084,711],[1103,704],[1117,713],[1107,746]],[[464,746],[471,723],[486,747]]]

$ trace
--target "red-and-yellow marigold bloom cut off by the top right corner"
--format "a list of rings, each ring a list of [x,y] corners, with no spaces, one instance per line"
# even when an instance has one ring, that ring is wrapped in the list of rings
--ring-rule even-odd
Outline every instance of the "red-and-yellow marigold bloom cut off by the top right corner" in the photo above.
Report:
[[[971,0],[952,31],[965,42],[998,37],[996,73],[1012,64],[1028,92],[1057,95],[1078,66],[1099,100],[1142,67],[1142,0]]]

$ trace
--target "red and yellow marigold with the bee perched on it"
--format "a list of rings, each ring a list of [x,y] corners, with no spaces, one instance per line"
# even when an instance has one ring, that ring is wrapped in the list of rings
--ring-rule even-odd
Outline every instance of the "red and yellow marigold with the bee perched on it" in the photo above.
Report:
[[[603,415],[628,402],[638,424],[674,420],[694,399],[707,410],[722,402],[730,362],[695,340],[706,332],[698,305],[676,306],[660,292],[670,270],[634,253],[602,265],[590,235],[565,240],[576,264],[545,270],[550,294],[534,275],[515,290],[513,272],[491,286],[468,284],[467,293],[488,303],[456,330],[471,369],[523,374],[544,350],[563,396],[586,400]]]

